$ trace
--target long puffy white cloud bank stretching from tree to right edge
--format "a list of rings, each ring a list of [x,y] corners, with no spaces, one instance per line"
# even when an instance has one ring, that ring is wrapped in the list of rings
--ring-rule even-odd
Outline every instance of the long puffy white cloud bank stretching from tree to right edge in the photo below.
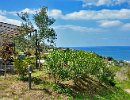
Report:
[[[49,14],[54,18],[60,18],[65,20],[108,20],[108,19],[130,19],[130,10],[80,10],[68,14],[63,14],[61,10],[52,10]]]

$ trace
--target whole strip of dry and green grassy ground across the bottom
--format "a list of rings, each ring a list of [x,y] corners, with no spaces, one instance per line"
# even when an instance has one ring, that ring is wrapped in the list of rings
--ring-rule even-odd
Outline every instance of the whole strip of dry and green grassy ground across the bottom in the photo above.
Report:
[[[92,80],[81,80],[79,86],[72,87],[53,83],[53,79],[45,72],[34,71],[32,73],[32,89],[28,89],[27,77],[24,81],[17,75],[8,75],[7,79],[0,76],[0,99],[31,99],[31,100],[129,100],[130,94],[123,91],[130,88],[129,82],[118,84],[118,87],[101,85]],[[88,83],[90,82],[90,83]],[[124,84],[124,85],[123,85]],[[125,84],[127,84],[125,86]],[[121,87],[121,88],[119,88]],[[80,89],[80,90],[79,90]],[[82,92],[83,91],[83,92]]]

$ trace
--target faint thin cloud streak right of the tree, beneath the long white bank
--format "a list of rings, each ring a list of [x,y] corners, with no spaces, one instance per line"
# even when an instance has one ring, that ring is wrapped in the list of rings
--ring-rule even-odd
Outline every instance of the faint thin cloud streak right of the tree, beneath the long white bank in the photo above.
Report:
[[[54,29],[60,29],[60,30],[73,30],[73,31],[78,31],[78,32],[98,32],[101,33],[103,32],[102,29],[100,28],[91,28],[91,27],[83,27],[83,26],[77,26],[77,25],[57,25],[54,26]]]

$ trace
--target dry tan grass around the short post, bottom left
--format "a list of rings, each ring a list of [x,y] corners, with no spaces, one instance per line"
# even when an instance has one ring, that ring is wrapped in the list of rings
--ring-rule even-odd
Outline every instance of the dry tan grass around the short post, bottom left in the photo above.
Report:
[[[67,96],[41,85],[33,83],[32,89],[29,90],[28,83],[17,80],[15,75],[7,76],[6,79],[0,76],[0,100],[57,100],[58,98],[67,100]]]

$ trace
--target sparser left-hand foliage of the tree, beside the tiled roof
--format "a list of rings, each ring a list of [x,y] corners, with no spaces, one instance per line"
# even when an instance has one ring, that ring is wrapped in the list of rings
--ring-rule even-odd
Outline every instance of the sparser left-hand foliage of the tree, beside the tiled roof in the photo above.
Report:
[[[34,46],[34,42],[30,41],[31,32],[33,32],[33,24],[30,21],[29,15],[27,12],[21,12],[17,14],[21,20],[22,24],[18,28],[18,31],[21,35],[14,38],[16,48],[21,51],[25,51],[27,48],[32,48]]]

